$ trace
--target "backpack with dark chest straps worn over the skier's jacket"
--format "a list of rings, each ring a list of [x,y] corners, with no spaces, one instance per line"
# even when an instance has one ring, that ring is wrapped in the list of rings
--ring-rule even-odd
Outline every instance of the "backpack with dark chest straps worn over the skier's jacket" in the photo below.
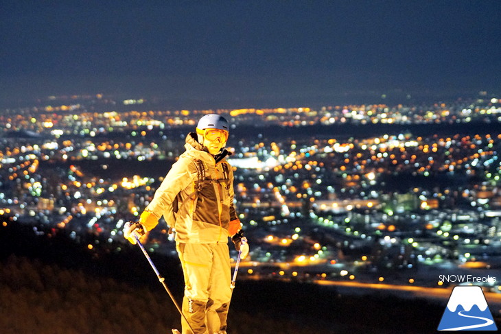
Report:
[[[187,198],[191,198],[192,196],[195,195],[194,201],[197,200],[198,198],[198,193],[202,191],[202,189],[207,186],[207,184],[211,184],[212,182],[226,182],[226,189],[229,189],[229,167],[228,163],[222,163],[222,169],[223,169],[223,178],[220,180],[207,180],[205,177],[205,166],[202,160],[200,159],[193,159],[193,163],[195,164],[196,167],[196,174],[197,174],[197,180],[195,182],[195,189],[192,193],[190,193]],[[167,223],[167,226],[169,226],[169,234],[172,234],[172,230],[176,228],[176,219],[177,219],[177,213],[183,208],[183,206],[188,202],[185,200],[185,202],[180,203],[181,200],[181,194],[178,193],[176,195],[176,198],[174,198],[174,201],[172,201],[172,204],[167,207],[167,210],[163,214],[163,218],[165,219],[165,222]]]

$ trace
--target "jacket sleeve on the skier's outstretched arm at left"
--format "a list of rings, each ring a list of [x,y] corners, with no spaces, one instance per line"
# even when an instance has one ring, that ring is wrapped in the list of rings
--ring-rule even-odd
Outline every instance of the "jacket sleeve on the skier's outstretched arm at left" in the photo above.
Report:
[[[153,200],[146,206],[145,211],[148,211],[160,219],[167,211],[167,208],[174,202],[176,195],[183,189],[189,186],[196,177],[196,170],[189,168],[190,160],[180,158],[167,173],[163,179],[159,189],[156,189]],[[156,224],[155,224],[156,226]],[[155,226],[145,226],[147,230],[151,230]]]

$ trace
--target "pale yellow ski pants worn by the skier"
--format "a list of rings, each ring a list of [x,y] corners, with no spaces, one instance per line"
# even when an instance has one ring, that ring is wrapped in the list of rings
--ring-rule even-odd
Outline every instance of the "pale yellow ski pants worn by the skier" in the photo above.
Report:
[[[226,330],[231,300],[228,243],[177,243],[185,278],[183,334],[213,334]]]

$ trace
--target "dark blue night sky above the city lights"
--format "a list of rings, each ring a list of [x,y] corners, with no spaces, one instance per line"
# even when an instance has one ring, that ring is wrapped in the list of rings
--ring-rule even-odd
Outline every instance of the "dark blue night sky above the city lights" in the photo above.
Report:
[[[0,0],[0,97],[501,91],[501,1]]]

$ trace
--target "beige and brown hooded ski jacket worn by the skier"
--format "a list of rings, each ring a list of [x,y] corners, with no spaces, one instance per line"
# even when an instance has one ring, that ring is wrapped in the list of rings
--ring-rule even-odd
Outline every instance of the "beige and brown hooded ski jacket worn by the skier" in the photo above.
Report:
[[[179,211],[175,225],[171,227],[176,230],[177,242],[226,243],[228,237],[236,232],[235,226],[240,228],[240,220],[233,207],[233,169],[225,158],[216,163],[218,156],[205,151],[196,141],[194,132],[187,135],[185,149],[145,211],[158,219],[164,215],[168,222],[167,215],[174,203]],[[197,168],[200,166],[204,168],[202,175],[205,174],[205,180],[201,189],[196,191],[200,178]],[[174,201],[176,198],[177,204]],[[154,226],[156,224],[145,228],[151,230]]]

